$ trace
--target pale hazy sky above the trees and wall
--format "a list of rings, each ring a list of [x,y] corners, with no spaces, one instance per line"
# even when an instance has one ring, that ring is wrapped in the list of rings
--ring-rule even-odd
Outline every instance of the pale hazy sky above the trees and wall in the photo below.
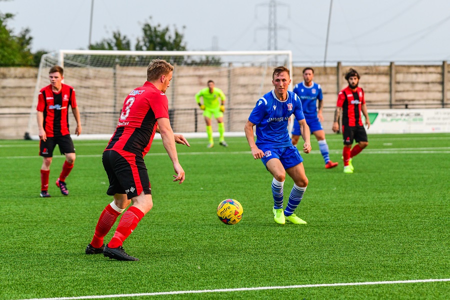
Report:
[[[176,26],[189,50],[266,50],[269,0],[94,0],[92,41],[120,30],[133,42],[141,24]],[[329,0],[276,1],[277,49],[323,63]],[[0,0],[29,27],[32,49],[87,48],[91,0]],[[450,60],[450,0],[333,0],[327,61]]]

